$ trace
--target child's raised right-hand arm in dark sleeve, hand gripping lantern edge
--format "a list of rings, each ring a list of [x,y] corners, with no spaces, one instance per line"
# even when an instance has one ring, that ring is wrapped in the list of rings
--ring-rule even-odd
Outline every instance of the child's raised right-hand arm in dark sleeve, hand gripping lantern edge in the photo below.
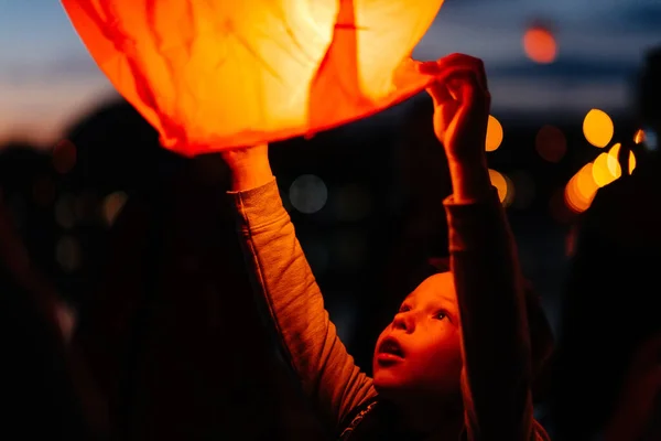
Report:
[[[429,92],[453,184],[445,208],[462,324],[468,439],[544,439],[532,417],[522,277],[486,161],[490,96],[484,65],[456,54],[422,68],[437,76]]]

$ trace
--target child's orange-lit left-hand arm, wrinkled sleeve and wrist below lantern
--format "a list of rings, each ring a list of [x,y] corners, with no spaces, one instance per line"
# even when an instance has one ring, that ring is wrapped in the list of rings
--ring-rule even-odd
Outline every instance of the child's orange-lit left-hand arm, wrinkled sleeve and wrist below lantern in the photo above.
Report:
[[[267,146],[224,153],[253,284],[305,394],[336,427],[376,395],[328,320],[312,270],[275,185]]]

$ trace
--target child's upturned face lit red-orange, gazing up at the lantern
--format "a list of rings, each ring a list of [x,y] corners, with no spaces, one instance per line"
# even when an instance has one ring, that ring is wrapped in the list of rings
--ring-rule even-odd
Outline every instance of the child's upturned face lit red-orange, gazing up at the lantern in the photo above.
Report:
[[[462,373],[459,309],[451,272],[425,279],[379,336],[373,380],[379,394],[454,396]],[[402,396],[402,398],[404,398]]]

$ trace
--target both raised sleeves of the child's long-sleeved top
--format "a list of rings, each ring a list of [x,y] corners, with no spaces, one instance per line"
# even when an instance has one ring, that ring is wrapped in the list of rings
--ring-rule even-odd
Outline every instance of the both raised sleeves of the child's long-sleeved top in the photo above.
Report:
[[[347,416],[378,400],[372,380],[354,364],[324,309],[275,181],[229,194],[254,287],[284,354],[319,416],[342,431]],[[472,203],[451,196],[444,206],[462,324],[464,435],[546,440],[532,417],[522,278],[502,206],[495,191]]]

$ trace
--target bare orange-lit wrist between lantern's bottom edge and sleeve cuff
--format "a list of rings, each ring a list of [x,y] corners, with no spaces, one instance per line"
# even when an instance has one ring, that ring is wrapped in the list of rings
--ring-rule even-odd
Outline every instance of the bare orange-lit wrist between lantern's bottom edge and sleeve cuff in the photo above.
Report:
[[[268,144],[226,150],[220,154],[231,172],[231,190],[235,192],[257,189],[273,179]]]

